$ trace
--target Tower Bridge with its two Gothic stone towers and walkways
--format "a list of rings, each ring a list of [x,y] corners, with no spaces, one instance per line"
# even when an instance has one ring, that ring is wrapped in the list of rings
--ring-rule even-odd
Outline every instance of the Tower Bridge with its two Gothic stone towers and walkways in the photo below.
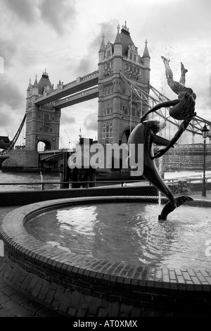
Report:
[[[155,104],[169,100],[150,84],[150,64],[148,42],[143,44],[140,55],[125,23],[121,30],[118,25],[113,43],[106,44],[105,36],[102,36],[98,69],[94,72],[77,77],[67,84],[59,81],[56,87],[51,84],[46,70],[39,82],[36,75],[34,84],[30,80],[27,87],[23,121],[13,140],[5,145],[10,158],[4,161],[4,165],[18,163],[24,168],[30,163],[38,166],[39,162],[44,161],[41,156],[37,161],[39,142],[44,142],[45,151],[59,151],[61,109],[94,98],[98,98],[98,143],[127,142],[141,116]],[[170,118],[167,108],[157,111],[155,115],[167,123],[164,135],[169,139],[171,132],[179,127],[179,121]],[[21,153],[25,156],[20,159],[20,151],[15,151],[14,145],[24,124],[25,151]],[[210,129],[211,123],[198,115],[191,121],[187,131],[192,135],[192,144],[194,137],[201,135],[200,130],[204,124]],[[208,137],[211,138],[211,135]],[[58,155],[55,157],[58,158]],[[53,156],[49,156],[45,161],[52,159]]]

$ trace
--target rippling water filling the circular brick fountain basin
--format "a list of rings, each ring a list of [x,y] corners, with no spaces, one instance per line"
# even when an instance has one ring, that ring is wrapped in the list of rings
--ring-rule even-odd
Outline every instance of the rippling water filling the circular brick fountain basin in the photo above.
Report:
[[[144,266],[211,269],[211,208],[180,206],[158,222],[157,204],[72,206],[41,214],[25,225],[64,251]]]

